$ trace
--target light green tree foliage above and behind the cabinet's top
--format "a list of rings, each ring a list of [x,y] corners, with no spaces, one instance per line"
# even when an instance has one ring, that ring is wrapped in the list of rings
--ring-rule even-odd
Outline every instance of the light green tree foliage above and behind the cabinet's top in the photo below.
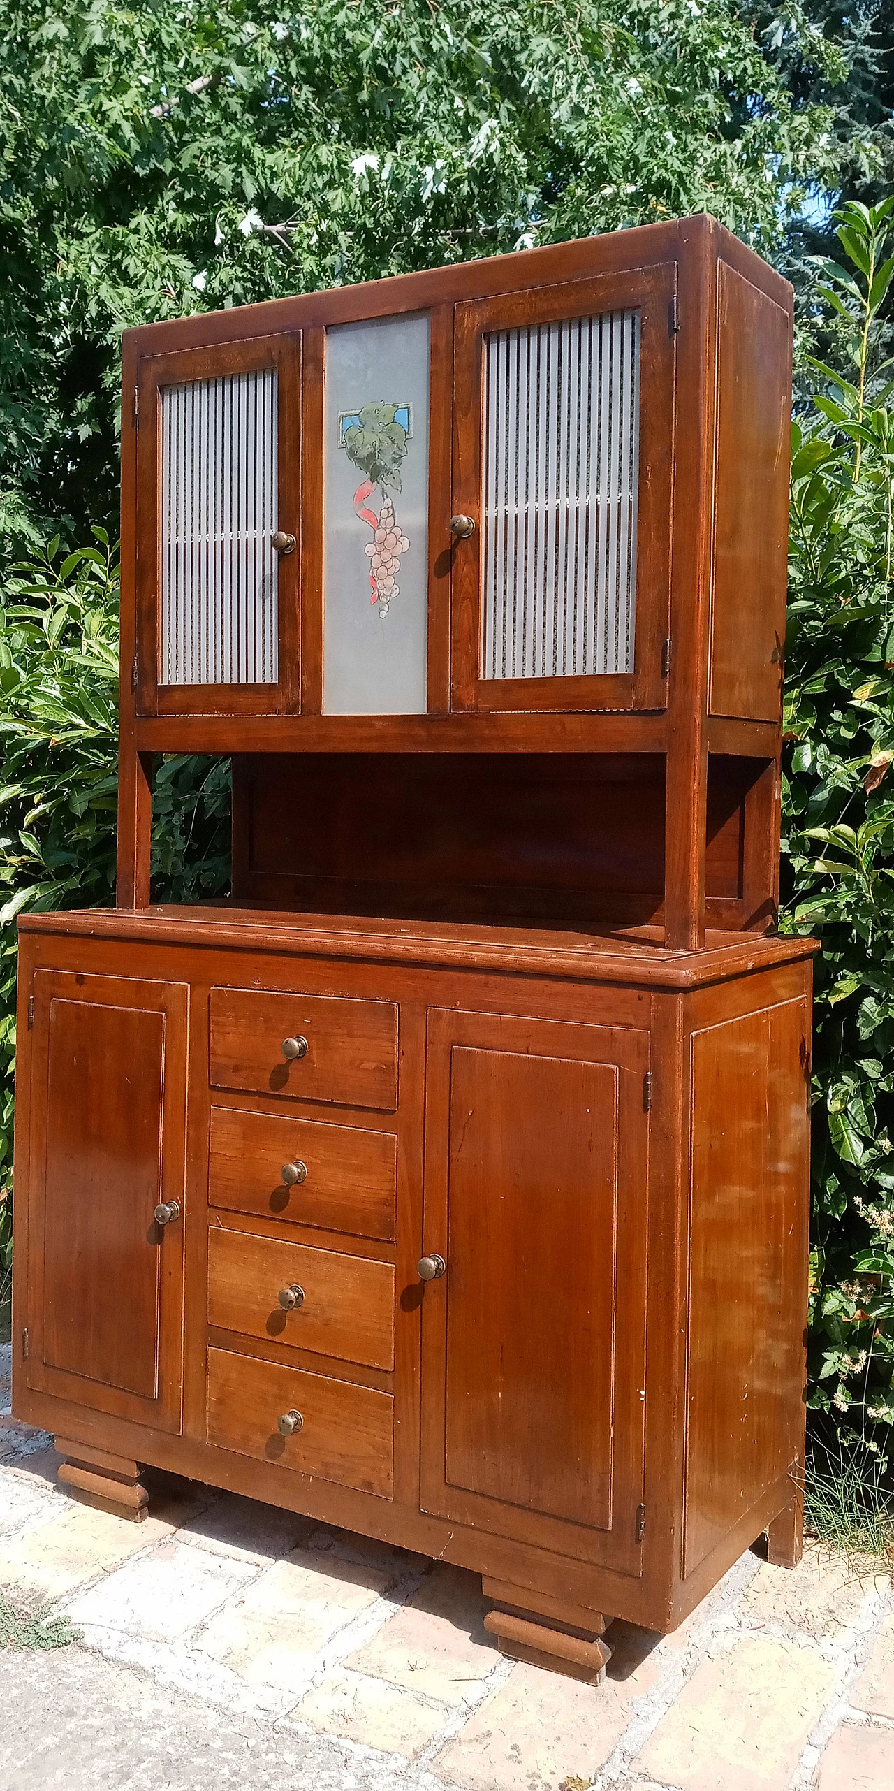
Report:
[[[0,537],[113,527],[129,324],[699,210],[772,251],[833,140],[769,54],[736,0],[0,0]]]

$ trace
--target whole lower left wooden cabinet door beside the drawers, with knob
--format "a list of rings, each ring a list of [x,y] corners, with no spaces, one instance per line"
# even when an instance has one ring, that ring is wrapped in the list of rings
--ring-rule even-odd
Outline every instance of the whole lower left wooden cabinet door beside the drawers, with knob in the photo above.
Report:
[[[38,971],[29,1384],[179,1429],[183,985]]]

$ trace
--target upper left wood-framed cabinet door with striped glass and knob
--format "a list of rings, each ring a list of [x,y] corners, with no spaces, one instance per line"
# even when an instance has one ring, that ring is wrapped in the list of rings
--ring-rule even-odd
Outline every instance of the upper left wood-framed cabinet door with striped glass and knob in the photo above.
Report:
[[[299,381],[288,335],[140,367],[142,713],[297,707]]]

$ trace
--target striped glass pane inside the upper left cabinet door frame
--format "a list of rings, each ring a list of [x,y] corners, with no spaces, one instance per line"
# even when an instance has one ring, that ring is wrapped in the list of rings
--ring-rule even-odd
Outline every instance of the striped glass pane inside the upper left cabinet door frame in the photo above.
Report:
[[[161,684],[276,684],[276,373],[161,392]]]

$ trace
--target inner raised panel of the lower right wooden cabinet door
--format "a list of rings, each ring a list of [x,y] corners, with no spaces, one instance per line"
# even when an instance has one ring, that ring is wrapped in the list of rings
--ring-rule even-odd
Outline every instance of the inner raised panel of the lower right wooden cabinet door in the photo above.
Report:
[[[611,1064],[451,1051],[446,1479],[602,1530],[616,1107]]]

